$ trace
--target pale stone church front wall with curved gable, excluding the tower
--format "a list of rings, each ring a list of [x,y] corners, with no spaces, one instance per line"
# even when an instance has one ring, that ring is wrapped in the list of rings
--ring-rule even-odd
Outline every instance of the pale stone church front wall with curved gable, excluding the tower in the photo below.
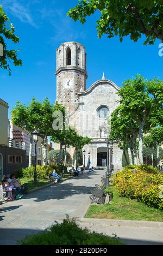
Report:
[[[79,93],[79,107],[70,117],[70,124],[77,128],[80,135],[92,139],[92,144],[84,147],[86,150],[86,164],[88,160],[87,153],[90,151],[91,163],[93,166],[97,166],[97,148],[106,147],[100,129],[103,127],[110,130],[110,127],[107,120],[98,117],[97,111],[99,106],[107,106],[111,115],[117,107],[117,91],[118,87],[109,80],[99,80],[89,90]],[[122,150],[118,148],[117,144],[114,144],[112,162],[115,168],[122,168]]]

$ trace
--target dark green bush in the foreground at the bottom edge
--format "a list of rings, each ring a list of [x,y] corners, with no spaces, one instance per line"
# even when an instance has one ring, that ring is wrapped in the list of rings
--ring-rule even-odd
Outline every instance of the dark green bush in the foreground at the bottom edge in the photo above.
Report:
[[[43,233],[27,236],[20,245],[124,245],[119,239],[79,228],[75,219],[64,219]]]

